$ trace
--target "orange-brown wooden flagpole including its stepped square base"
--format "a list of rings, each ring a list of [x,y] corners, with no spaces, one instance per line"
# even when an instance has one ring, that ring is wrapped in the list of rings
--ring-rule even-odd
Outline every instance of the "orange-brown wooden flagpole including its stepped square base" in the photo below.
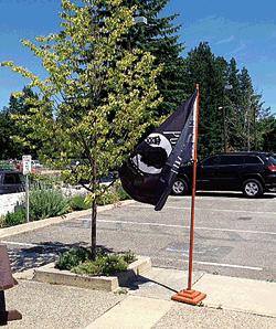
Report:
[[[191,206],[191,227],[190,227],[190,254],[189,254],[189,276],[188,289],[173,295],[171,298],[192,305],[199,304],[206,297],[206,294],[192,289],[192,263],[193,263],[193,232],[194,232],[194,210],[195,210],[195,181],[197,181],[197,161],[198,161],[198,118],[199,118],[199,85],[197,85],[197,110],[195,110],[195,134],[194,134],[194,153],[193,153],[193,188],[192,188],[192,206]]]

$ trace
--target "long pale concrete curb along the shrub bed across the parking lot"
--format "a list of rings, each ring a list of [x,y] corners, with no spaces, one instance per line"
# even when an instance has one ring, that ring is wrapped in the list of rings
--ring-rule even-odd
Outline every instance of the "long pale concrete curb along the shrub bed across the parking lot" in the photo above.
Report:
[[[126,200],[126,201],[120,201],[119,203],[116,204],[107,204],[107,205],[99,205],[97,208],[97,212],[104,212],[114,208],[119,208],[119,206],[124,206],[124,205],[128,205],[128,204],[134,204],[136,203],[136,201],[134,200]],[[62,216],[57,216],[57,217],[51,217],[51,219],[46,219],[46,220],[41,220],[41,221],[36,221],[36,222],[30,222],[30,223],[24,223],[24,224],[20,224],[17,226],[11,226],[11,227],[7,227],[7,229],[0,229],[0,238],[1,237],[6,237],[6,236],[11,236],[11,235],[15,235],[19,233],[24,233],[24,232],[29,232],[29,231],[33,231],[36,229],[41,229],[41,227],[46,227],[53,224],[57,224],[57,223],[62,223],[62,222],[66,222],[79,216],[86,216],[86,215],[91,215],[92,210],[82,210],[82,211],[75,211],[72,213],[67,213],[65,215]]]

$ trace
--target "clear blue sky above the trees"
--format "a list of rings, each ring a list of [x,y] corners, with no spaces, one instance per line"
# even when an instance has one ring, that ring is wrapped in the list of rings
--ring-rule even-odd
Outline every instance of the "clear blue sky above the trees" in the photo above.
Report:
[[[13,61],[45,78],[41,60],[20,40],[59,32],[61,0],[1,0],[0,8],[0,63]],[[182,24],[178,34],[185,46],[183,57],[200,42],[209,42],[215,56],[234,57],[240,71],[247,68],[255,93],[276,114],[275,0],[171,0],[161,15],[174,13],[180,14],[174,24]],[[28,83],[19,73],[0,67],[0,109]]]

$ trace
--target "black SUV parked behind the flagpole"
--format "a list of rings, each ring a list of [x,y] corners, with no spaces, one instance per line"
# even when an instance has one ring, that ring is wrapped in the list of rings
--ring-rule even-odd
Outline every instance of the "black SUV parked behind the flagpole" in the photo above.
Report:
[[[182,166],[172,185],[172,194],[183,195],[192,189],[193,166]],[[276,188],[276,159],[266,152],[216,153],[197,166],[197,190],[242,191],[257,198]]]

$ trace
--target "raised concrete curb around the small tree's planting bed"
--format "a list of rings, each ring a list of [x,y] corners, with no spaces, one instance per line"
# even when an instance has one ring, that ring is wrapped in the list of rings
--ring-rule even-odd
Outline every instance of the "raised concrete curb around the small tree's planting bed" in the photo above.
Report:
[[[54,268],[54,263],[34,269],[33,280],[53,285],[66,285],[86,289],[113,291],[130,278],[136,277],[151,267],[150,257],[138,256],[138,259],[128,266],[128,270],[113,276],[83,276],[70,270]]]

